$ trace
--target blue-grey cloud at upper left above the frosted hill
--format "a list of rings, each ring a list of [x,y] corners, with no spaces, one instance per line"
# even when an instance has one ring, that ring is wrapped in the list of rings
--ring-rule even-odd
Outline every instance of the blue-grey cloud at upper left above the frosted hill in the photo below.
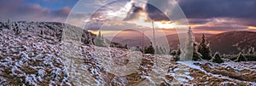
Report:
[[[15,1],[10,0],[4,3],[0,3],[0,17],[3,20],[26,20],[26,21],[59,21],[63,22],[67,19],[67,15],[70,13],[71,9],[64,7],[62,9],[52,10],[48,8],[43,8],[36,3],[25,3],[19,0],[20,3],[16,4]],[[16,4],[16,5],[14,5]],[[11,7],[14,6],[14,7]],[[11,7],[11,8],[10,8]]]

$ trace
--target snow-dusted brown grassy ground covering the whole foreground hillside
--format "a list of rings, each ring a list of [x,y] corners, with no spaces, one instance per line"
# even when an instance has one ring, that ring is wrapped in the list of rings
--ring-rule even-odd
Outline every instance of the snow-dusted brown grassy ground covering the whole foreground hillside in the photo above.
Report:
[[[255,61],[176,62],[172,55],[61,41],[63,27],[0,23],[0,85],[256,85]]]

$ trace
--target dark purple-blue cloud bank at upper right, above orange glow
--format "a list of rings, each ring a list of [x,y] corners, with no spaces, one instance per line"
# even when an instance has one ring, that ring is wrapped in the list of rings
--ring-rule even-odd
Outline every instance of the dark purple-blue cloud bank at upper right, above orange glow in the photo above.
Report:
[[[256,19],[255,0],[179,0],[188,18],[245,18]]]

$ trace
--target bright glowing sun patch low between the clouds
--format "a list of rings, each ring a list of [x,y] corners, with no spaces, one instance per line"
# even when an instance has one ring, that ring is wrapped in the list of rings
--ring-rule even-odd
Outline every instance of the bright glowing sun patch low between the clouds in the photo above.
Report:
[[[172,21],[155,21],[154,23],[156,27],[162,29],[173,29],[176,26],[176,23],[173,23]]]

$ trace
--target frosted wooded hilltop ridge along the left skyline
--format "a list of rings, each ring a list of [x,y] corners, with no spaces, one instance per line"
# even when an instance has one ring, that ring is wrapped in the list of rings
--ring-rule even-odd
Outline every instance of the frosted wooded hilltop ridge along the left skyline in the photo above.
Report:
[[[71,26],[59,22],[0,22],[0,36],[4,34],[17,37],[43,37],[53,42],[60,42],[64,30],[67,32],[81,31],[82,37],[79,39],[82,43],[94,43],[96,35],[79,27]],[[90,41],[90,42],[89,42]]]

